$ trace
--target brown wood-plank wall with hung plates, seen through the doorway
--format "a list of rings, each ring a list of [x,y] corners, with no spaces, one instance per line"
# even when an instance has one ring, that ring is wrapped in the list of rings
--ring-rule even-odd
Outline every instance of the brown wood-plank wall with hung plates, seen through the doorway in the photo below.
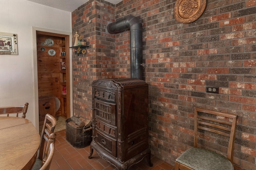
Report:
[[[48,46],[46,39],[52,39],[54,44]],[[38,69],[38,97],[55,96],[60,99],[60,44],[64,43],[61,37],[37,35],[37,69]],[[53,49],[56,54],[50,55]],[[60,110],[56,115],[60,115]]]

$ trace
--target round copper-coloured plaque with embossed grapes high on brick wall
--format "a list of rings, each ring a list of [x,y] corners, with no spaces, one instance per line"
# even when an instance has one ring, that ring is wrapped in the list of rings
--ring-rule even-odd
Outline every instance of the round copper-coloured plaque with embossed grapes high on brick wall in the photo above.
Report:
[[[180,23],[190,23],[204,12],[206,0],[177,0],[174,6],[174,17]]]

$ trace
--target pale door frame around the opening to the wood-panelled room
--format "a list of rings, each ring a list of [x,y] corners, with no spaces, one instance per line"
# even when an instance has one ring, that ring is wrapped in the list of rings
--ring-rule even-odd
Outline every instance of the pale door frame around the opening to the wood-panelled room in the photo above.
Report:
[[[70,47],[72,45],[72,33],[71,32],[63,32],[59,30],[50,30],[46,28],[38,28],[38,27],[32,27],[32,46],[33,46],[33,65],[34,65],[34,70],[33,70],[33,77],[34,77],[34,101],[35,101],[35,127],[39,131],[39,105],[38,105],[38,72],[37,72],[37,48],[36,48],[36,31],[40,32],[45,32],[45,35],[49,36],[59,36],[65,38],[66,36],[69,36],[69,42],[66,42],[66,47]],[[67,53],[68,52],[68,53]],[[69,91],[69,96],[70,96],[70,115],[68,116],[72,117],[73,116],[73,83],[72,83],[72,49],[69,49],[66,51],[66,56],[69,55],[69,86],[70,86],[70,91]],[[68,100],[67,100],[68,101]]]

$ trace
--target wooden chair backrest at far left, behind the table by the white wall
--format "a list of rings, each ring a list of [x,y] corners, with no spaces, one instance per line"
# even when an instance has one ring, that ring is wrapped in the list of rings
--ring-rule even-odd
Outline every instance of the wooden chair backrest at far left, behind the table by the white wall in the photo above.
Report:
[[[9,106],[9,107],[0,107],[0,115],[16,114],[18,117],[19,113],[22,113],[22,117],[26,118],[26,113],[28,110],[28,103],[25,103],[24,106]]]

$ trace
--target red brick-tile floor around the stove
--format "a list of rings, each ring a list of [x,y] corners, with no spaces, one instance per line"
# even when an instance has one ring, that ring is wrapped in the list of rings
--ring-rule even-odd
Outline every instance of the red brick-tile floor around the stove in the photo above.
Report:
[[[50,170],[117,170],[110,163],[102,160],[94,151],[92,159],[88,159],[90,146],[74,148],[66,141],[66,130],[56,132],[55,152]],[[141,161],[128,170],[173,170],[170,164],[151,156],[152,167]]]

